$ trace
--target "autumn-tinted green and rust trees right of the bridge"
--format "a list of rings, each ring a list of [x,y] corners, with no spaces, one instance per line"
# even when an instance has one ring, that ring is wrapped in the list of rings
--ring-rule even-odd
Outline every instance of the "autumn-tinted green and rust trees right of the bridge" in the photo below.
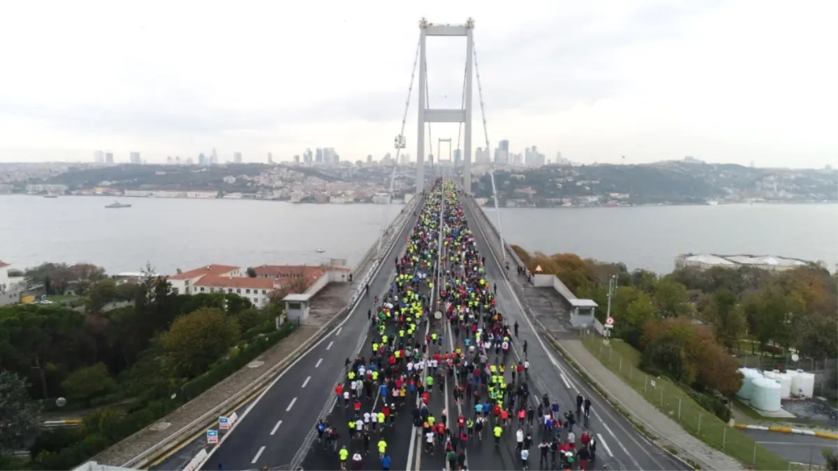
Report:
[[[769,272],[756,267],[685,267],[665,276],[622,263],[573,254],[529,254],[530,269],[556,275],[579,298],[590,298],[603,321],[608,282],[616,320],[613,336],[642,354],[650,372],[699,391],[730,396],[742,386],[734,355],[750,351],[789,358],[838,355],[838,275],[824,267]]]

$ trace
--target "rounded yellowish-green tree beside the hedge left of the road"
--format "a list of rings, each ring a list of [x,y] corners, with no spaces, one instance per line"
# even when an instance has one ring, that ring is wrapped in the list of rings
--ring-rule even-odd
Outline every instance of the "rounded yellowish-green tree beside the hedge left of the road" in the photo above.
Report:
[[[193,377],[224,355],[239,339],[235,319],[220,309],[201,308],[177,318],[163,335],[168,363],[178,374]]]

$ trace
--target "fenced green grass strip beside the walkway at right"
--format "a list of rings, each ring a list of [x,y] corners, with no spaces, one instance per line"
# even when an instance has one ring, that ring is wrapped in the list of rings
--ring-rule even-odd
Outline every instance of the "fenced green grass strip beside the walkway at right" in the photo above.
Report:
[[[755,443],[736,428],[728,427],[716,414],[698,405],[684,390],[665,377],[650,376],[638,368],[640,353],[621,340],[609,344],[597,334],[582,337],[582,344],[614,374],[644,396],[661,412],[678,422],[692,436],[713,448],[722,450],[742,463],[761,471],[789,471],[789,462]],[[754,459],[756,456],[756,459]],[[803,468],[800,468],[803,469]]]

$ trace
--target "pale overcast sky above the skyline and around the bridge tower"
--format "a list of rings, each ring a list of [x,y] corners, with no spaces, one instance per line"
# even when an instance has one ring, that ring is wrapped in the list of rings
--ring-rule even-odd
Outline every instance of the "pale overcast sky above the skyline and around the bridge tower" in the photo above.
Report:
[[[29,0],[0,15],[0,162],[246,161],[399,133],[418,19],[475,18],[489,142],[577,162],[838,166],[838,2]],[[428,39],[456,107],[464,39]],[[475,80],[476,85],[476,80]],[[475,86],[476,89],[476,86]],[[484,145],[475,90],[475,147]],[[416,154],[416,91],[406,124]],[[432,137],[458,127],[432,125]],[[436,143],[434,143],[436,148]]]

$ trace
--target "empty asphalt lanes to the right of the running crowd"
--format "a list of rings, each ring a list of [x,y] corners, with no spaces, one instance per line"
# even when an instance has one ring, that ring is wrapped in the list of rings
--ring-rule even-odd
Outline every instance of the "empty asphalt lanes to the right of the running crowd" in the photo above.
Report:
[[[499,311],[507,316],[510,323],[515,321],[519,323],[520,337],[516,339],[517,344],[520,346],[521,342],[527,341],[527,357],[530,361],[532,385],[530,391],[533,395],[540,397],[547,392],[551,400],[557,397],[561,404],[561,411],[567,411],[570,408],[576,409],[576,396],[579,392],[582,393],[582,396],[591,399],[591,417],[587,419],[586,423],[582,424],[582,429],[587,429],[594,437],[597,437],[599,443],[597,468],[607,463],[609,469],[641,469],[644,471],[689,469],[680,461],[670,458],[669,454],[660,450],[654,444],[649,443],[623,416],[614,411],[607,401],[597,395],[561,355],[551,351],[550,345],[539,338],[534,326],[525,318],[523,306],[515,296],[515,292],[504,278],[504,269],[500,267],[499,261],[489,251],[483,232],[474,224],[475,217],[470,206],[463,204],[463,209],[468,218],[469,229],[475,235],[478,251],[486,257],[487,278],[498,285],[497,305]],[[510,270],[514,270],[514,268],[510,267]],[[515,272],[513,271],[510,276],[514,275]],[[576,430],[574,431],[576,432]],[[580,432],[577,432],[577,436],[578,433]],[[514,432],[510,435],[513,436],[512,439],[514,440]],[[536,438],[535,435],[534,438]],[[514,445],[512,449],[515,450]],[[489,453],[489,458],[475,458],[481,460],[476,463],[488,463],[488,461],[484,462],[483,460],[494,458],[493,453],[495,453],[494,450]],[[483,456],[484,453],[474,454],[477,457]],[[500,456],[504,457],[504,450],[501,450]],[[471,458],[471,456],[468,458]],[[533,461],[533,458],[538,459],[537,453],[532,453],[530,466],[537,463]],[[503,459],[504,463],[511,463],[509,459]],[[512,458],[510,457],[510,459]],[[515,466],[520,467],[517,461],[514,461],[514,463]],[[476,469],[480,468],[478,466]]]

